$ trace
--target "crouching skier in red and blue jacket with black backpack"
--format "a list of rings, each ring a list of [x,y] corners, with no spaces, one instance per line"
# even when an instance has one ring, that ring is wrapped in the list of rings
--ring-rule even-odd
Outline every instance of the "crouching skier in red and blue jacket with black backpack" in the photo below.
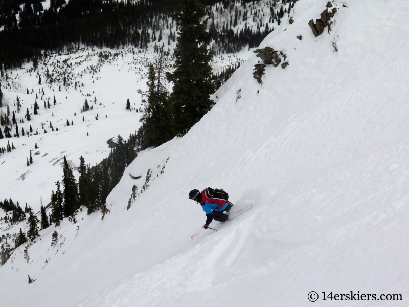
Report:
[[[213,221],[225,222],[229,215],[224,214],[223,211],[229,212],[233,204],[228,201],[229,195],[222,189],[207,188],[200,192],[199,190],[191,190],[189,199],[200,203],[201,208],[206,213],[206,224],[203,228],[208,229],[209,224]]]

